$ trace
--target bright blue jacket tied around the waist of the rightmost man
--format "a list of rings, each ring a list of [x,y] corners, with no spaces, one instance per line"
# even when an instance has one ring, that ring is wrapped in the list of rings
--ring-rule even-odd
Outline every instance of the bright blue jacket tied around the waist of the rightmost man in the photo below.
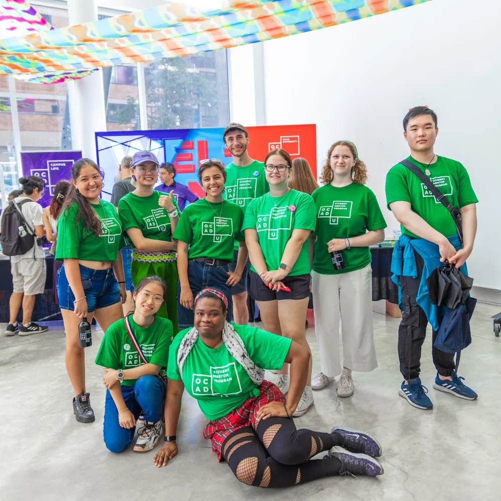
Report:
[[[461,248],[461,242],[459,241],[457,233],[449,237],[448,240],[456,250]],[[416,302],[423,309],[428,322],[433,327],[433,330],[438,331],[439,323],[437,313],[439,307],[431,304],[428,295],[428,287],[426,286],[426,280],[428,280],[431,272],[433,272],[435,268],[441,266],[440,253],[436,243],[425,240],[424,238],[412,239],[407,235],[401,235],[395,243],[391,261],[391,271],[393,273],[391,279],[398,285],[398,306],[400,311],[404,310],[400,277],[417,278],[417,266],[414,250],[421,256],[421,258],[423,258],[424,261],[423,274],[421,276]],[[465,275],[468,275],[466,263],[462,265],[459,270]]]

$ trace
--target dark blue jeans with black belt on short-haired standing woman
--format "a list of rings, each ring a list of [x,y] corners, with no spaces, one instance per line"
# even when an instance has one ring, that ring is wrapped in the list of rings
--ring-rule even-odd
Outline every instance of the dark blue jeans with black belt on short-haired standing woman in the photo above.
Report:
[[[188,281],[193,300],[202,289],[217,289],[228,298],[228,313],[226,320],[231,322],[233,303],[231,301],[231,288],[226,285],[228,280],[228,266],[207,266],[193,260],[188,261]],[[184,308],[179,303],[181,297],[181,283],[177,282],[177,311],[179,330],[193,327],[195,314],[193,310]]]

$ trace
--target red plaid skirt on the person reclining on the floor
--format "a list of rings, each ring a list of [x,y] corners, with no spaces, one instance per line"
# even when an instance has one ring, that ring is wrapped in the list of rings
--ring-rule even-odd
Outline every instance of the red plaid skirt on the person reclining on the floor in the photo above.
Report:
[[[222,443],[230,433],[246,426],[256,429],[256,419],[262,405],[270,402],[285,402],[284,394],[270,381],[263,381],[258,389],[260,391],[258,397],[247,398],[240,407],[215,421],[209,421],[205,426],[203,438],[207,440],[210,438],[212,450],[217,453],[218,461],[224,461],[221,452]]]

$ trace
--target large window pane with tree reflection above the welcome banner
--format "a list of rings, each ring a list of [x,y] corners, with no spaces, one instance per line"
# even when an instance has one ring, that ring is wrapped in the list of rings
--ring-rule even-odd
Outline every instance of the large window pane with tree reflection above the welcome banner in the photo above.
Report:
[[[229,120],[226,51],[144,65],[148,129],[223,127]]]

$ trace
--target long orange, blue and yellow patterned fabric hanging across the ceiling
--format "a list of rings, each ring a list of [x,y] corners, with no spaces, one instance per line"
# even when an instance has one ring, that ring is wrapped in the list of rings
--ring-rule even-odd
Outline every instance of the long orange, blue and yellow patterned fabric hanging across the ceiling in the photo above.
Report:
[[[174,2],[80,26],[0,40],[0,74],[49,74],[186,56],[295,35],[430,0]],[[211,8],[212,7],[212,8]]]

